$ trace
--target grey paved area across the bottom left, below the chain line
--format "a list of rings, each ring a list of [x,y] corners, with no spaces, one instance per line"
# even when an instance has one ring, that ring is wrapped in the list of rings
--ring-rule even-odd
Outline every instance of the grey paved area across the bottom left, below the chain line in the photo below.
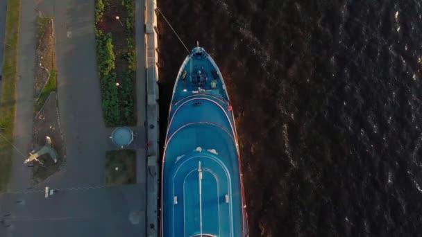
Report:
[[[144,195],[139,184],[112,188],[3,195],[6,226],[0,236],[144,236]],[[2,215],[3,216],[3,215]]]

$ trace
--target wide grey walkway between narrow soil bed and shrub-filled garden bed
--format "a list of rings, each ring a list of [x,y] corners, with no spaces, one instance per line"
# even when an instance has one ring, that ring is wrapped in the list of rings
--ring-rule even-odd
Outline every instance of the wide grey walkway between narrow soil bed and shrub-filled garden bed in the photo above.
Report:
[[[39,9],[55,22],[58,103],[67,152],[65,170],[57,180],[62,186],[103,184],[105,151],[115,147],[101,110],[94,3],[44,0]]]

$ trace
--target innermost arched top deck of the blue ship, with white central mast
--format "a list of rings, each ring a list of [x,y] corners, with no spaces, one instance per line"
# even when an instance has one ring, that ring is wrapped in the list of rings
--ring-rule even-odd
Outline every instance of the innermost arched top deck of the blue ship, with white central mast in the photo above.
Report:
[[[221,163],[218,157],[205,154],[205,152],[185,157],[177,167],[172,188],[174,197],[178,197],[183,204],[173,205],[175,227],[178,227],[180,232],[183,229],[183,236],[199,234],[201,228],[204,234],[231,236],[230,233],[227,233],[230,231],[228,225],[231,223],[229,220],[230,204],[226,203],[225,198],[230,191],[231,178],[227,167]],[[201,177],[199,168],[202,170]],[[202,199],[202,209],[199,208],[200,198]],[[201,216],[203,220],[198,218]],[[175,232],[179,231],[175,229]]]

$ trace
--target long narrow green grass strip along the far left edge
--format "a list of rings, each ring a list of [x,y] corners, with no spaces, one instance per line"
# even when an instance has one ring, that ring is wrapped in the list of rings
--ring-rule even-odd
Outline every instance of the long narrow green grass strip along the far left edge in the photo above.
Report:
[[[13,127],[16,109],[16,75],[21,1],[8,0],[0,101],[0,191],[6,191],[12,168]],[[4,138],[7,139],[4,139]]]

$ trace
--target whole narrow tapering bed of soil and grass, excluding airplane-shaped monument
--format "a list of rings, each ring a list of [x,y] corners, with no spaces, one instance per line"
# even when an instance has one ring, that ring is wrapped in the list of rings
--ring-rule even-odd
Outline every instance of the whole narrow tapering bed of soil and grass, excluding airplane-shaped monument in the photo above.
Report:
[[[60,129],[58,100],[56,95],[56,65],[53,20],[47,17],[37,19],[36,49],[37,64],[35,65],[35,117],[33,120],[33,150],[37,151],[46,144],[50,137],[52,148],[56,150],[58,162],[55,164],[49,155],[39,159],[44,163],[32,161],[33,180],[43,182],[56,173],[65,162],[65,146]]]

